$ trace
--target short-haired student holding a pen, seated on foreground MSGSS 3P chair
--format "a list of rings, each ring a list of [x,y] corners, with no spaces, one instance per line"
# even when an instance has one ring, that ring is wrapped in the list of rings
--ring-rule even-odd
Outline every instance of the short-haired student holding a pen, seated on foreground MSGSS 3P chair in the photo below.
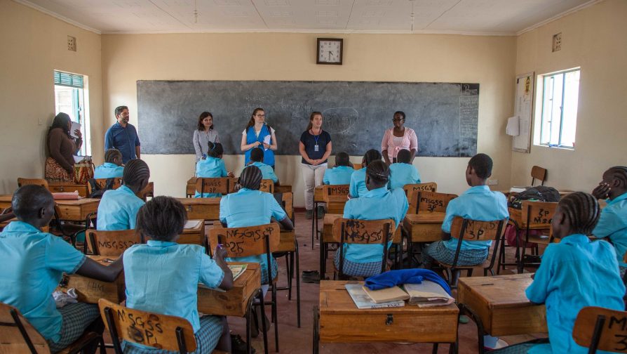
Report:
[[[137,232],[147,244],[134,244],[123,254],[126,306],[183,317],[194,328],[196,352],[214,348],[231,352],[229,324],[224,316],[198,317],[198,283],[229,290],[233,274],[217,247],[214,258],[196,244],[178,244],[187,211],[172,197],[154,197],[137,212]],[[124,353],[146,353],[151,348],[122,343]],[[156,350],[156,349],[153,349]]]

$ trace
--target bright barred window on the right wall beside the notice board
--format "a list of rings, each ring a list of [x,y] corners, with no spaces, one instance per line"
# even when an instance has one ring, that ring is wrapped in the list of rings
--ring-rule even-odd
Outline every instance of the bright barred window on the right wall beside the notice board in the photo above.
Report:
[[[542,76],[540,145],[574,148],[579,68]]]

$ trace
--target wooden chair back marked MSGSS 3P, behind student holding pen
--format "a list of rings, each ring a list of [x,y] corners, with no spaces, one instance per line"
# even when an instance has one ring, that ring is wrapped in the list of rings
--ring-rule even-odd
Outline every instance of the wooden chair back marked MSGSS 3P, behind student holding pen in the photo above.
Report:
[[[135,310],[105,299],[98,301],[98,307],[116,353],[122,353],[121,341],[180,353],[196,350],[194,328],[182,317]]]

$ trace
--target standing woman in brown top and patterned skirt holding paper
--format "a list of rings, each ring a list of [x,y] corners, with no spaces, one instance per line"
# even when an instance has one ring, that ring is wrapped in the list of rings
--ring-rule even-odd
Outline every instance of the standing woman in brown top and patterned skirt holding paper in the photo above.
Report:
[[[81,131],[76,129],[74,133],[78,138],[69,135],[72,129],[72,119],[66,113],[56,115],[53,125],[48,130],[48,152],[46,159],[46,180],[64,181],[74,180],[74,154],[83,145]]]

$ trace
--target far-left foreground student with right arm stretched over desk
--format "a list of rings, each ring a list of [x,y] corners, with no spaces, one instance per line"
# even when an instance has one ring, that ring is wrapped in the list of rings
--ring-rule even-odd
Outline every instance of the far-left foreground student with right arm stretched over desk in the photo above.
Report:
[[[97,304],[68,303],[56,308],[51,294],[63,273],[114,281],[122,270],[121,258],[109,266],[100,265],[61,237],[41,232],[55,212],[53,196],[41,185],[18,188],[11,205],[18,221],[0,233],[0,258],[4,261],[0,301],[18,308],[53,353],[67,348],[83,332],[102,334]]]

